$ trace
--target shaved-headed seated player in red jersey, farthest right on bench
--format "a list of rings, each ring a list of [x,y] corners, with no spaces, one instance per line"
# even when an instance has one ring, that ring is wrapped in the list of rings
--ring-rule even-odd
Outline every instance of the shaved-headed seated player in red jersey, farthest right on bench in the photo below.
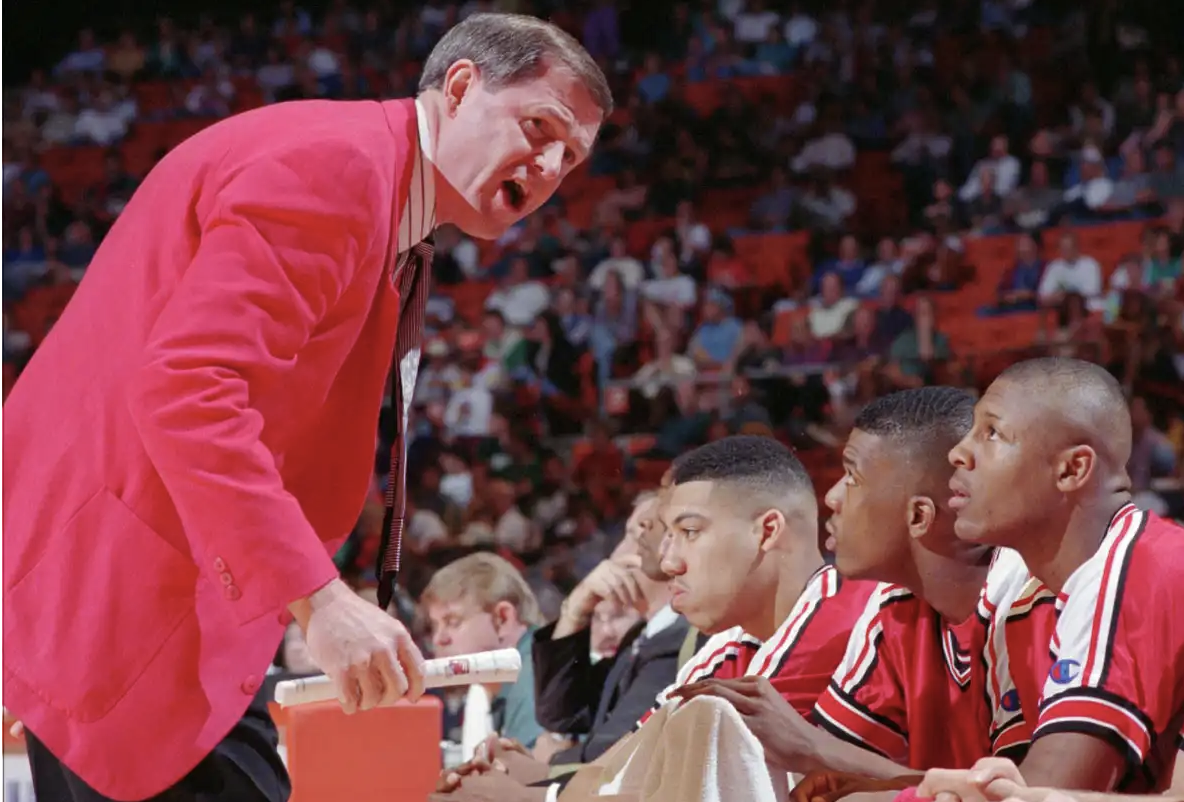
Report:
[[[1031,785],[1153,793],[1172,782],[1184,530],[1131,503],[1131,438],[1109,373],[1034,359],[991,384],[950,454],[958,537],[1015,548],[1057,595],[1040,719],[1019,765]]]

